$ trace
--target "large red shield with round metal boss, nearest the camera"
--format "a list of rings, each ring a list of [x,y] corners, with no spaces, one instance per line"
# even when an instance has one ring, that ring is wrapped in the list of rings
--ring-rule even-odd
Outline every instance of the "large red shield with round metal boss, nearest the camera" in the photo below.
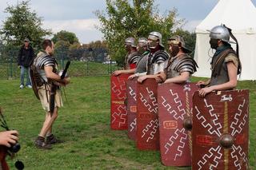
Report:
[[[249,90],[193,97],[192,169],[248,169]]]

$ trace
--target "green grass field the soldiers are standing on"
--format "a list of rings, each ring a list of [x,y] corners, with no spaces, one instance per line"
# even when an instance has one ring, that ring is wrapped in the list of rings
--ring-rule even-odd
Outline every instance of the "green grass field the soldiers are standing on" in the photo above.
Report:
[[[256,169],[255,84],[238,84],[238,89],[250,89],[250,169]],[[159,152],[138,151],[126,131],[110,130],[110,77],[72,78],[66,88],[68,103],[54,124],[54,134],[65,142],[50,151],[39,150],[34,139],[45,113],[32,89],[18,86],[18,80],[0,80],[0,106],[10,128],[20,133],[18,157],[25,169],[190,169],[165,167]],[[10,169],[14,161],[8,158]]]

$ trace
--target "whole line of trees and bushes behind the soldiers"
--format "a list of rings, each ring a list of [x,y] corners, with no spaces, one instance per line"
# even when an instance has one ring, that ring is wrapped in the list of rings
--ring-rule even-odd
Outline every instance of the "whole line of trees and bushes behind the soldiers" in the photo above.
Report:
[[[182,35],[190,49],[194,50],[195,45],[195,34],[182,30],[185,20],[178,18],[178,10],[159,14],[154,0],[106,0],[106,10],[95,11],[101,22],[97,29],[104,35],[104,41],[89,44],[80,43],[76,34],[66,30],[53,34],[50,29],[43,29],[42,17],[30,9],[30,0],[7,6],[4,12],[10,15],[0,30],[0,50],[18,49],[23,40],[29,38],[35,51],[38,51],[42,39],[53,36],[58,58],[80,61],[111,59],[122,65],[126,55],[124,41],[128,37],[147,38],[151,31],[158,31],[162,34],[164,45],[174,34]]]

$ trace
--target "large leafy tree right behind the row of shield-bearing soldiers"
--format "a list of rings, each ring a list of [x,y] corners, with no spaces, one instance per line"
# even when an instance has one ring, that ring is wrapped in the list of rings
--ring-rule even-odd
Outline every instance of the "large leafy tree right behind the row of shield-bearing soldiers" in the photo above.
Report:
[[[160,15],[154,0],[106,0],[106,13],[96,11],[112,60],[123,63],[126,51],[124,41],[128,37],[148,37],[152,31],[162,34],[164,44],[172,35],[172,29],[182,24],[177,10]]]

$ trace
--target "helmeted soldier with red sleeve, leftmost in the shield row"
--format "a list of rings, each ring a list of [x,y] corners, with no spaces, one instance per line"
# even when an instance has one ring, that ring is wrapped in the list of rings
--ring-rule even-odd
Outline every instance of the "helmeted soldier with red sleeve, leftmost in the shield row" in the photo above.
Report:
[[[118,76],[121,73],[134,73],[138,58],[141,57],[141,54],[137,51],[134,38],[126,38],[125,47],[127,54],[125,57],[124,69],[114,71],[114,76]]]

